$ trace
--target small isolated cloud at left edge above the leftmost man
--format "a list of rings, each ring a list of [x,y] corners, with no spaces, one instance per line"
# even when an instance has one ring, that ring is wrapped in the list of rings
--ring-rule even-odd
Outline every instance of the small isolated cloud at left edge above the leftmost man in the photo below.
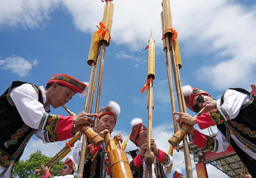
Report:
[[[38,64],[37,60],[34,59],[32,62],[22,58],[20,56],[12,55],[5,60],[0,60],[0,67],[3,70],[10,70],[14,74],[18,74],[20,77],[30,75],[32,66]]]

